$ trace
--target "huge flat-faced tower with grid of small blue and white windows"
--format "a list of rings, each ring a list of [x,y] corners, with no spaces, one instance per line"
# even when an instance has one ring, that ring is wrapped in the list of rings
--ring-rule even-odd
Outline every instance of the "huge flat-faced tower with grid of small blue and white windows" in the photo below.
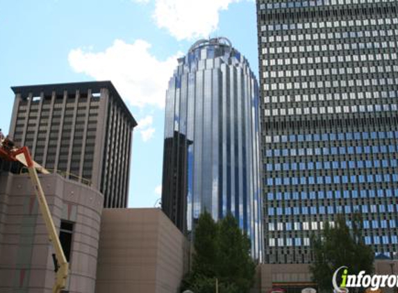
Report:
[[[257,1],[265,262],[310,262],[310,234],[356,210],[397,254],[397,6]]]

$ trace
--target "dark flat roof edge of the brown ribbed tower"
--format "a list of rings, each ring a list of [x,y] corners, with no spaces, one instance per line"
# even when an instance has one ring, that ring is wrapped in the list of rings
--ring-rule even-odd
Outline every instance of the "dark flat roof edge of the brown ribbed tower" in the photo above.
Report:
[[[122,108],[126,111],[131,121],[133,122],[133,127],[137,126],[137,122],[135,121],[133,115],[130,110],[127,108],[126,103],[124,103],[122,97],[120,97],[119,92],[117,92],[116,87],[113,85],[111,81],[83,81],[78,83],[50,83],[47,85],[18,85],[11,87],[14,94],[22,94],[28,95],[30,93],[34,95],[40,95],[41,92],[60,92],[66,90],[67,92],[73,92],[76,90],[83,90],[83,92],[87,92],[91,89],[93,92],[99,92],[101,88],[106,88],[109,90],[113,97],[115,97]]]

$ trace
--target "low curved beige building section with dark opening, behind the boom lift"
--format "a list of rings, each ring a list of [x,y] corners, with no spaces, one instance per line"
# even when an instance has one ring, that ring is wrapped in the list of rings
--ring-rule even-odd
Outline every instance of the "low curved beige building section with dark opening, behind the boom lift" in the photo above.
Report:
[[[68,292],[94,292],[103,196],[88,185],[40,176],[53,221],[69,258]],[[31,180],[0,176],[0,292],[51,292],[53,248]]]

